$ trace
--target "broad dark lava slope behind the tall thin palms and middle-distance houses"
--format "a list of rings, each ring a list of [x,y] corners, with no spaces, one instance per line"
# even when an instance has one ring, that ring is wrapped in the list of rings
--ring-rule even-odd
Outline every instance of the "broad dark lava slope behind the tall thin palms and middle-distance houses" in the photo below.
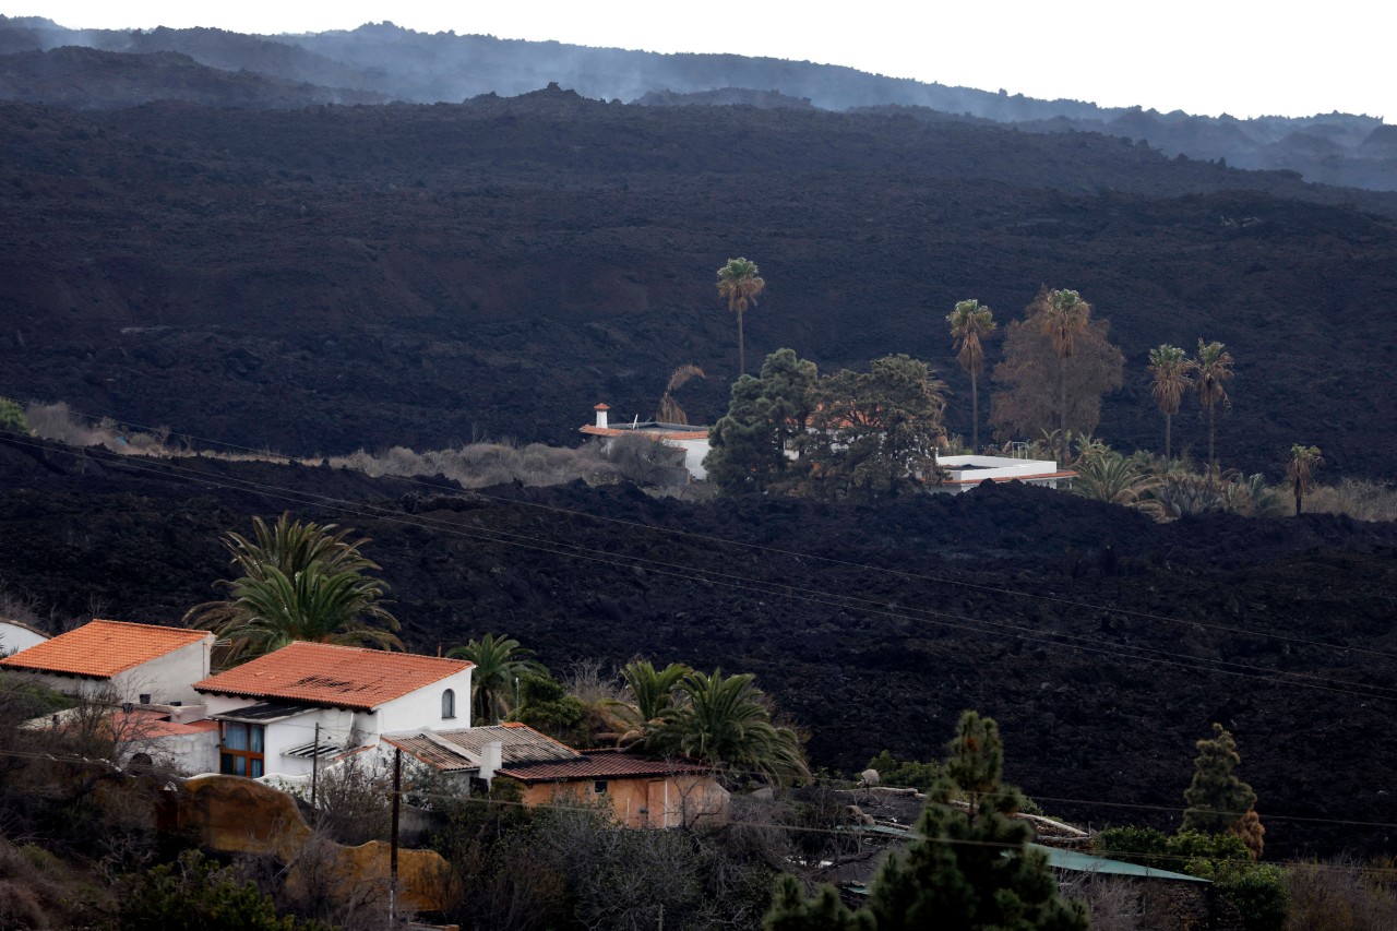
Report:
[[[1146,351],[1221,340],[1228,466],[1390,472],[1397,194],[1165,158],[1094,133],[548,89],[457,105],[0,105],[0,394],[296,453],[576,443],[591,407],[728,401],[714,271],[761,264],[747,359],[928,359],[944,317],[1080,289],[1129,361],[1099,435],[1158,446]],[[1343,326],[1336,326],[1336,320]],[[999,359],[1002,342],[986,349]],[[140,376],[134,376],[140,372]],[[983,390],[983,386],[982,386]],[[1197,450],[1196,401],[1175,442]]]

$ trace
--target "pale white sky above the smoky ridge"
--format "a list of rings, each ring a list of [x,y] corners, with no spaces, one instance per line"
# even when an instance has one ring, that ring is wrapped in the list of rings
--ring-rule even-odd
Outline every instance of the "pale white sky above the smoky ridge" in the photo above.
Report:
[[[1397,122],[1397,8],[1330,0],[0,0],[74,28],[279,34],[390,20],[423,32],[728,52],[1102,106],[1238,117],[1333,110]]]

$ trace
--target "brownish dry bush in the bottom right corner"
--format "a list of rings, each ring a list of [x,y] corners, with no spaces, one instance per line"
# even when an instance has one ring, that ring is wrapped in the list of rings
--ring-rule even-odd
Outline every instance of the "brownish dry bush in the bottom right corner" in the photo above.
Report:
[[[1391,861],[1363,869],[1352,860],[1298,863],[1289,869],[1287,931],[1386,931],[1397,928]]]

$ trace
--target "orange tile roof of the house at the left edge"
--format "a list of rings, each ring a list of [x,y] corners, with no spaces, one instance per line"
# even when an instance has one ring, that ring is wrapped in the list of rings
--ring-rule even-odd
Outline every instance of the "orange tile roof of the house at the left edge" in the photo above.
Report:
[[[0,667],[35,672],[61,672],[109,679],[200,640],[212,643],[208,630],[161,628],[154,623],[92,621],[77,630],[36,643],[0,660]]]

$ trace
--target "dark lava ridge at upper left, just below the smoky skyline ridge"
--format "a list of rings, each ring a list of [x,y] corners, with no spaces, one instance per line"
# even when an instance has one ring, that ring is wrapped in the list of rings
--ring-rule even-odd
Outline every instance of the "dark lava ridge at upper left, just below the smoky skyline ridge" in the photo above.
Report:
[[[152,101],[251,109],[386,102],[373,91],[221,71],[177,52],[123,55],[78,46],[0,56],[0,99],[78,109],[116,109]]]

